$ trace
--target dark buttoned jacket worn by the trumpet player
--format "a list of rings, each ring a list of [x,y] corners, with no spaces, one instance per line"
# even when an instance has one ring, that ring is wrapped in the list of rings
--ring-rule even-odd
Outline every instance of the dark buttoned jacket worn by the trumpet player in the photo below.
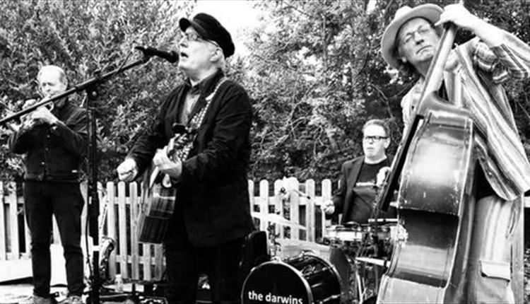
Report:
[[[88,115],[66,100],[52,111],[59,122],[22,129],[9,137],[9,149],[25,156],[25,180],[78,182],[88,145]]]

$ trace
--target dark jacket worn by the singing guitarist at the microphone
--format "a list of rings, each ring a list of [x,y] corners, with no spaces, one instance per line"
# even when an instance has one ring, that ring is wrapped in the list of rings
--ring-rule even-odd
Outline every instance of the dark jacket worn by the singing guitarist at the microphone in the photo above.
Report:
[[[206,105],[206,96],[221,77],[219,71],[203,83],[190,117]],[[178,122],[189,88],[189,83],[184,83],[170,93],[151,128],[129,152],[139,174],[151,163],[156,149],[172,138],[172,125]],[[225,81],[206,111],[177,183],[177,208],[182,210],[189,240],[196,246],[242,238],[253,228],[247,182],[251,123],[252,106],[245,89]]]

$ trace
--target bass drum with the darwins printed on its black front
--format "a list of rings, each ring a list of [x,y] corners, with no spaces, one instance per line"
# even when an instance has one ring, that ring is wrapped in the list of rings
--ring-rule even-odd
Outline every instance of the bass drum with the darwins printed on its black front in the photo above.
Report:
[[[341,303],[341,278],[326,260],[302,252],[254,267],[243,283],[243,304]]]

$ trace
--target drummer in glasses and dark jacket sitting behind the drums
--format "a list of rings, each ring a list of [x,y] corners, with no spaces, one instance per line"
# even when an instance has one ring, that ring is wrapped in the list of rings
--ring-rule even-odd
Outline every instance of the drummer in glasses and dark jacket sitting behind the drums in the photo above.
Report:
[[[342,165],[339,187],[333,199],[324,202],[322,210],[327,216],[342,214],[341,223],[368,223],[375,218],[377,175],[379,178],[391,165],[386,150],[390,144],[389,129],[381,119],[370,119],[363,126],[363,156],[348,160]],[[396,211],[381,211],[377,217],[394,218]]]

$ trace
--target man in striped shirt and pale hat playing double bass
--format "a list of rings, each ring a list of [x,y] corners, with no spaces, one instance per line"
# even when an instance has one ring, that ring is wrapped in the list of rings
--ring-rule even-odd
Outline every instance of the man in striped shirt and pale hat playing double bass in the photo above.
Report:
[[[530,165],[502,83],[530,76],[530,47],[459,4],[444,9],[432,4],[400,8],[383,34],[381,52],[390,66],[418,75],[401,100],[406,128],[440,40],[438,26],[447,22],[476,35],[449,54],[440,88],[441,95],[447,95],[452,92],[449,77],[456,74],[462,79],[464,106],[476,127],[474,151],[480,166],[467,302],[513,303],[509,286],[512,228],[519,218],[522,194],[530,189]],[[493,224],[495,229],[488,230]]]

